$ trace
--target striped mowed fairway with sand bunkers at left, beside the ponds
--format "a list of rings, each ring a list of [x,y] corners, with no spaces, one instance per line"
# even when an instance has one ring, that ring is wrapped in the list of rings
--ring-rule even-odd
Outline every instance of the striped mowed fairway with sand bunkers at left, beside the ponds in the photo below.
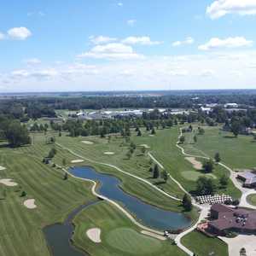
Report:
[[[48,256],[42,228],[61,222],[68,212],[94,198],[90,183],[73,178],[64,181],[62,172],[42,163],[48,151],[44,143],[0,149],[0,166],[6,167],[0,178],[13,178],[19,184],[12,188],[0,184],[1,256]],[[21,191],[27,195],[20,197]],[[30,198],[36,200],[36,209],[23,205]]]

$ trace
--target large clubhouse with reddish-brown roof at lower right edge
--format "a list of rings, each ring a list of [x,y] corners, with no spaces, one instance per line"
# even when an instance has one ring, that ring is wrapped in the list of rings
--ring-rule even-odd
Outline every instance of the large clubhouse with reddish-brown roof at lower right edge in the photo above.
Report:
[[[207,225],[210,234],[225,236],[227,231],[256,234],[255,210],[216,204],[211,208],[211,218]]]

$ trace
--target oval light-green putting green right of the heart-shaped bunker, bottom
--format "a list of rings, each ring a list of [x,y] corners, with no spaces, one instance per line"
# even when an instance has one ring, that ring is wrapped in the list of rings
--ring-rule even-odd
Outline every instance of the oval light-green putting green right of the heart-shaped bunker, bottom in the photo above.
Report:
[[[152,237],[143,236],[129,228],[111,230],[106,237],[108,245],[124,253],[146,254],[156,253],[161,249],[161,241]],[[157,254],[157,253],[156,253]]]

